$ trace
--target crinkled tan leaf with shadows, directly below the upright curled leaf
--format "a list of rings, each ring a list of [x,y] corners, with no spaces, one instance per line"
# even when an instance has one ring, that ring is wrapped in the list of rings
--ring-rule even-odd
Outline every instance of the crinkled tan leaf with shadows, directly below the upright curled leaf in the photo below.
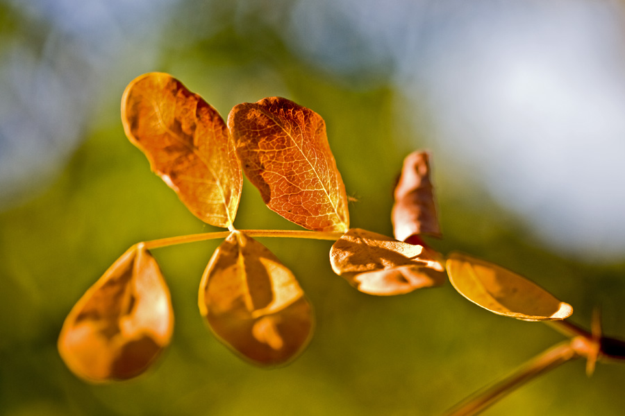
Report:
[[[334,243],[330,262],[337,275],[370,295],[400,295],[445,280],[435,252],[360,228]]]

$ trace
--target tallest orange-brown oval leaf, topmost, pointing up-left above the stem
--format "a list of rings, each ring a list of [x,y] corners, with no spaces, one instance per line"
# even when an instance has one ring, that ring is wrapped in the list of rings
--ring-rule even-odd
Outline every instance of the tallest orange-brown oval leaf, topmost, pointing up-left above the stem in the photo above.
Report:
[[[122,122],[194,216],[215,227],[233,224],[243,175],[217,110],[167,73],[146,73],[124,91]]]

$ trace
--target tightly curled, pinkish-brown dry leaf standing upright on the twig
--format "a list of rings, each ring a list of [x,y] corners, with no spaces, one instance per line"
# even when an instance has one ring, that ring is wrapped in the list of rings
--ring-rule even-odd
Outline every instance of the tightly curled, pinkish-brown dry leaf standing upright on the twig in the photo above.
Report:
[[[408,241],[419,234],[441,236],[428,153],[414,152],[403,159],[394,196],[391,218],[396,239]]]

